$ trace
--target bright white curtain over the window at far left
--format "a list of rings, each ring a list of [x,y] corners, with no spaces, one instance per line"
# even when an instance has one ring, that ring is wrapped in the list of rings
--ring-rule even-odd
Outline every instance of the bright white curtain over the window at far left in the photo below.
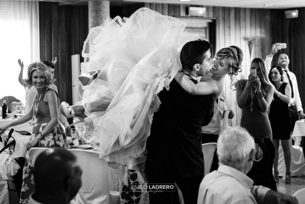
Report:
[[[0,98],[11,95],[25,103],[18,58],[26,78],[28,65],[39,60],[38,11],[38,2],[0,0]]]

